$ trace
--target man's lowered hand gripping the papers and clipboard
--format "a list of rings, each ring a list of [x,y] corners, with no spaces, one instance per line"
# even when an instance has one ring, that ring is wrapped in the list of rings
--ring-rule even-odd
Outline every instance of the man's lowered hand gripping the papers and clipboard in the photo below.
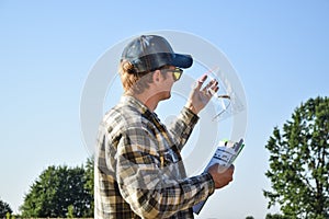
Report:
[[[232,181],[232,174],[235,166],[230,165],[229,168],[222,166],[218,163],[208,168],[208,173],[212,175],[215,182],[215,188],[222,188],[229,184]]]

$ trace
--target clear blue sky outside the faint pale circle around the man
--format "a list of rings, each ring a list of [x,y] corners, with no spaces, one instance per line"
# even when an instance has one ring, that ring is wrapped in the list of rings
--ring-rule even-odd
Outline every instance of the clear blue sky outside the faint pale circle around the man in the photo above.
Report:
[[[273,127],[300,102],[328,95],[329,2],[0,1],[0,197],[16,211],[50,164],[89,157],[79,106],[88,73],[112,46],[158,30],[195,34],[235,67],[248,103],[235,181],[197,218],[264,218]]]

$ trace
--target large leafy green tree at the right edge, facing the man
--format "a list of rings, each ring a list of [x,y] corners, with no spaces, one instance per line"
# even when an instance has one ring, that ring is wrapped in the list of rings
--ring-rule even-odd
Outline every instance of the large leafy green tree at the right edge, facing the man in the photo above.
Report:
[[[270,151],[272,191],[268,208],[279,204],[284,217],[329,217],[329,99],[309,99],[292,119],[273,130]]]

